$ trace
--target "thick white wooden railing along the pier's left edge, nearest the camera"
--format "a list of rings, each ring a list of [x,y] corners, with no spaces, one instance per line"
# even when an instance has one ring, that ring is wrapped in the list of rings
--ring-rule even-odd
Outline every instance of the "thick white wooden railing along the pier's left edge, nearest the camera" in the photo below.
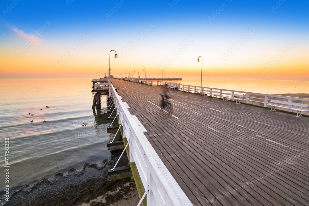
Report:
[[[123,137],[128,140],[129,159],[135,162],[142,179],[147,205],[192,205],[130,114],[127,104],[122,102],[113,86],[111,90]]]

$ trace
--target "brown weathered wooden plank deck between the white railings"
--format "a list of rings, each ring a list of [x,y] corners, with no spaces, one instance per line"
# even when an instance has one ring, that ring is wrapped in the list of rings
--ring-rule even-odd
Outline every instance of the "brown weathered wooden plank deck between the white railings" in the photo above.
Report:
[[[112,79],[193,205],[309,205],[309,118]]]

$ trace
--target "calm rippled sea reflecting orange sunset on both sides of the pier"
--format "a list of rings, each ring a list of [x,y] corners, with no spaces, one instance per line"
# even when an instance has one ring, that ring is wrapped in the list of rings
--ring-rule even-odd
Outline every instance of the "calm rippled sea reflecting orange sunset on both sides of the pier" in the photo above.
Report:
[[[98,162],[110,157],[106,145],[113,134],[106,132],[110,124],[106,120],[106,96],[102,96],[101,109],[92,110],[90,81],[91,78],[0,79],[0,152],[4,154],[4,139],[9,138],[10,187],[41,179],[90,157]],[[201,84],[200,78],[176,82]],[[202,84],[267,94],[309,93],[306,80],[203,79]],[[4,165],[7,164],[2,155],[1,190]]]

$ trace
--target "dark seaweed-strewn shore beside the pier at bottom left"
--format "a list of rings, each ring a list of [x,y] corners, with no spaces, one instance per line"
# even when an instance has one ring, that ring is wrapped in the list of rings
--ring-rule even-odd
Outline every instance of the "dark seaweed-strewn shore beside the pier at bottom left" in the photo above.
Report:
[[[84,163],[80,169],[70,168],[57,172],[34,183],[28,183],[10,192],[9,202],[0,198],[0,205],[111,205],[120,201],[137,201],[139,196],[130,178],[108,181],[108,169],[112,168],[122,151],[111,151],[111,159],[96,163]],[[83,161],[82,161],[83,162]],[[117,166],[128,164],[123,155]],[[62,170],[63,171],[63,170]],[[92,203],[93,202],[93,203]],[[5,204],[3,204],[5,203]]]

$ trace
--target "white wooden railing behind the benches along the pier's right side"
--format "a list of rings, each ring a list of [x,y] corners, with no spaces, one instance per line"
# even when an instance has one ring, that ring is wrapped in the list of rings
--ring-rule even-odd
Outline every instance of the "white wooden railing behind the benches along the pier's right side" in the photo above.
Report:
[[[176,82],[167,82],[178,84]],[[166,82],[158,81],[157,85],[165,85]],[[184,85],[179,84],[177,85],[178,90],[190,92],[190,93],[200,93],[201,95],[208,95],[210,97],[218,97],[222,99],[227,94],[234,100],[234,97],[243,96],[242,101],[245,101],[247,104],[250,102],[261,103],[264,107],[268,107],[268,103],[270,103],[272,99],[284,99],[287,102],[296,102],[296,101],[305,101],[309,103],[309,99],[307,98],[299,98],[299,97],[290,97],[290,96],[282,96],[282,95],[270,95],[270,94],[261,94],[255,92],[247,92],[247,91],[238,91],[238,90],[228,90],[228,89],[218,89],[218,88],[211,88],[211,87],[201,87],[201,86],[192,86],[192,85]],[[271,97],[271,98],[270,98]],[[291,111],[291,106],[289,106],[288,111]]]

